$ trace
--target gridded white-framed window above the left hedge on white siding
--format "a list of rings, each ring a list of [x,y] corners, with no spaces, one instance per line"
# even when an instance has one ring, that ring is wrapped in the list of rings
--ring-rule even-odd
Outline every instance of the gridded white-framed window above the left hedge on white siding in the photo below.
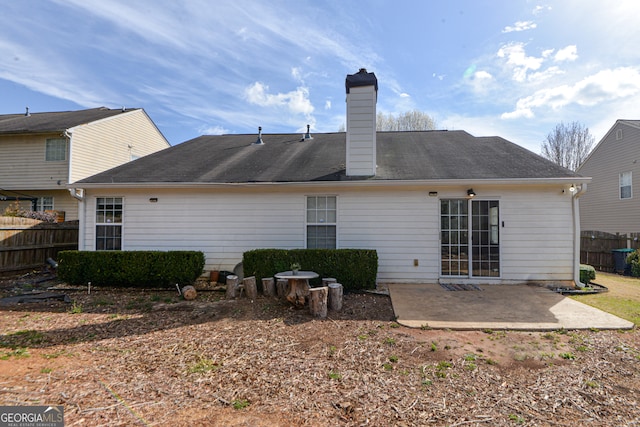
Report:
[[[96,250],[122,249],[122,197],[96,199]]]

